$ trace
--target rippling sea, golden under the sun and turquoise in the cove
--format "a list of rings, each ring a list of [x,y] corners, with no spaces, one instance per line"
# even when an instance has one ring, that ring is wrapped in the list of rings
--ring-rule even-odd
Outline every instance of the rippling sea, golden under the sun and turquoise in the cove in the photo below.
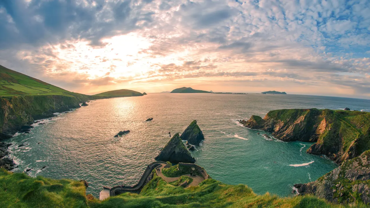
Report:
[[[197,120],[205,140],[192,155],[212,178],[288,196],[293,184],[314,181],[337,165],[307,154],[312,143],[269,140],[236,120],[282,108],[370,110],[369,100],[268,94],[148,94],[88,104],[11,138],[10,156],[19,164],[14,171],[87,180],[87,193],[98,197],[103,185],[136,184],[168,132],[181,134]],[[122,130],[131,132],[115,138]]]

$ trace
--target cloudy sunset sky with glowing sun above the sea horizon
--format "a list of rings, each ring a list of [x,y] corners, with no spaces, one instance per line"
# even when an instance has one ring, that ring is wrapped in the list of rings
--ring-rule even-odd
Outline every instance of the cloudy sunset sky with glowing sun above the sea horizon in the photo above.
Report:
[[[0,65],[96,94],[370,98],[369,0],[1,0]]]

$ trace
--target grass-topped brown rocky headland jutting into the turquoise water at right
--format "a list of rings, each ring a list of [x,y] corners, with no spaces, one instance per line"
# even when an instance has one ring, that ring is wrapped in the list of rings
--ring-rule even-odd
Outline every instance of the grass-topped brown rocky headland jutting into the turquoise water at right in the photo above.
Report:
[[[370,149],[370,113],[342,110],[283,109],[262,119],[240,121],[245,127],[271,132],[283,141],[316,142],[307,152],[341,163]]]

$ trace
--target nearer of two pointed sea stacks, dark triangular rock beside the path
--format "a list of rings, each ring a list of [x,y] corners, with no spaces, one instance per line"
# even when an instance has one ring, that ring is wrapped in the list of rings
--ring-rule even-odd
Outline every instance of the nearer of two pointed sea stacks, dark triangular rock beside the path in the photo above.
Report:
[[[169,161],[172,163],[194,163],[195,159],[191,156],[189,150],[182,143],[179,133],[176,133],[166,146],[154,158],[157,161]]]

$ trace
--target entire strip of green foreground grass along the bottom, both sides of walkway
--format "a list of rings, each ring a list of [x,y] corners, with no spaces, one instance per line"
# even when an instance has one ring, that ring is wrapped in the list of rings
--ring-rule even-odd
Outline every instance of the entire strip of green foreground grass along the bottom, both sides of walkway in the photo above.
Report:
[[[166,183],[154,172],[153,179],[140,194],[125,193],[99,201],[86,197],[83,182],[41,176],[31,178],[24,173],[13,174],[1,169],[0,207],[349,207],[312,196],[257,195],[246,185],[227,185],[214,179],[186,189],[174,185]],[[356,207],[366,206],[357,204]]]

